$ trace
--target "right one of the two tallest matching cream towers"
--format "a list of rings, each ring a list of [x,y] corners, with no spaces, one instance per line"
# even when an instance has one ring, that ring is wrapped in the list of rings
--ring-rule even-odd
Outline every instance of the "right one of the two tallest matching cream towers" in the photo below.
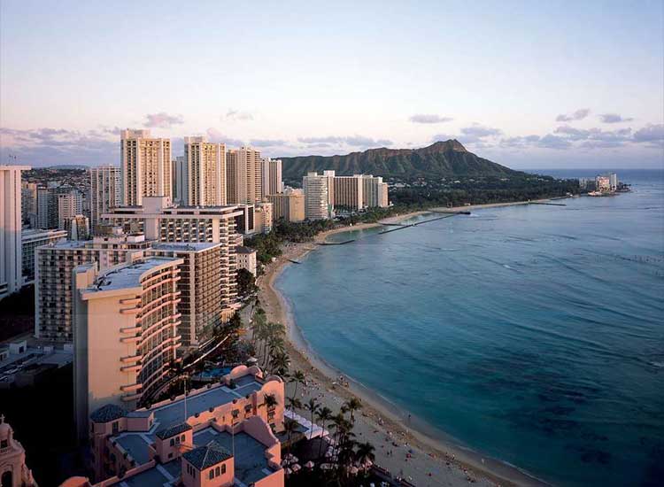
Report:
[[[176,171],[177,201],[189,206],[226,205],[226,146],[205,137],[184,137],[184,160]]]

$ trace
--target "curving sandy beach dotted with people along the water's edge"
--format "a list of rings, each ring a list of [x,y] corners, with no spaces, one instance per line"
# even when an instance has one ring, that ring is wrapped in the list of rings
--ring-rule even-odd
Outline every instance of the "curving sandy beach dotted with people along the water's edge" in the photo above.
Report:
[[[472,211],[485,207],[523,205],[525,203],[474,205],[457,208],[439,208],[444,211]],[[406,213],[382,220],[383,223],[395,223],[413,216],[429,212]],[[475,483],[478,485],[542,485],[543,482],[522,473],[517,468],[505,463],[483,458],[444,440],[424,434],[430,431],[427,425],[409,414],[398,410],[389,401],[368,390],[362,384],[344,376],[344,385],[339,383],[341,372],[330,367],[313,352],[297,329],[287,301],[274,288],[274,280],[282,269],[290,264],[290,259],[300,260],[310,251],[316,251],[319,244],[335,233],[362,228],[374,228],[381,223],[365,223],[353,227],[342,227],[319,234],[314,243],[287,243],[282,256],[266,267],[266,272],[259,277],[259,300],[265,309],[268,321],[278,321],[286,325],[289,336],[288,352],[291,370],[305,373],[307,385],[298,390],[301,400],[316,398],[321,406],[328,406],[335,414],[349,398],[357,397],[363,408],[356,414],[355,433],[358,441],[368,441],[375,446],[376,464],[386,468],[392,475],[408,479],[418,487],[458,486]],[[289,395],[292,391],[289,391]],[[299,414],[308,417],[305,411]],[[410,453],[408,457],[406,455]]]

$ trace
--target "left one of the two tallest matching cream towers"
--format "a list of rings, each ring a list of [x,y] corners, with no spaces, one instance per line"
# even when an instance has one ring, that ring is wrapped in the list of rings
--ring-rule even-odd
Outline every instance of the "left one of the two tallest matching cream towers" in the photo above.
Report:
[[[143,205],[143,197],[172,196],[171,141],[150,130],[120,133],[122,205]]]

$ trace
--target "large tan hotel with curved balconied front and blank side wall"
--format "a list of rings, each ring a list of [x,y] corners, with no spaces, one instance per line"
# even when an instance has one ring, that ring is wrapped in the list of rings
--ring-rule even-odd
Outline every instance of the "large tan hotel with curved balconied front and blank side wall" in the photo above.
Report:
[[[74,413],[79,435],[89,415],[113,404],[135,409],[174,365],[180,346],[179,266],[182,259],[149,258],[73,270]]]

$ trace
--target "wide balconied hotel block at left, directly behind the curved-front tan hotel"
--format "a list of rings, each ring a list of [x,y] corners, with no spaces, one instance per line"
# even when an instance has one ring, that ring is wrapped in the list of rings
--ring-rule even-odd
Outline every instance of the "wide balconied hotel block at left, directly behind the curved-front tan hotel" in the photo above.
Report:
[[[143,235],[116,231],[92,241],[60,241],[35,249],[35,336],[54,342],[73,340],[72,271],[98,262],[100,270],[150,247]]]

